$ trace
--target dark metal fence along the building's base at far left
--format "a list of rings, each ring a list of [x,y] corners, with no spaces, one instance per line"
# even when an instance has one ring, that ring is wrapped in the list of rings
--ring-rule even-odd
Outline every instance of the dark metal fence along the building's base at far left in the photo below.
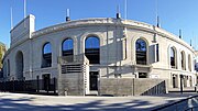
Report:
[[[48,80],[12,80],[1,81],[0,91],[2,92],[24,92],[38,95],[57,95],[57,79]]]

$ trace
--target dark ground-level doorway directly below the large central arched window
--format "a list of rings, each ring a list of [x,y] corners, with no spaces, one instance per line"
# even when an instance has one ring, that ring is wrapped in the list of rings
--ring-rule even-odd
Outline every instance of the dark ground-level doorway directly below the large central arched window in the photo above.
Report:
[[[98,90],[98,71],[89,73],[89,88],[90,90]]]

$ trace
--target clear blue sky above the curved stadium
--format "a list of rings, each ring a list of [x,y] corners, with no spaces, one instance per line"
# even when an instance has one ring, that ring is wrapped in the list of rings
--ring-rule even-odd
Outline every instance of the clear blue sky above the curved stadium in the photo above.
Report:
[[[26,13],[36,18],[36,30],[65,22],[66,9],[72,20],[85,18],[114,18],[117,5],[123,16],[124,0],[26,0]],[[161,26],[193,45],[198,43],[198,0],[157,0]],[[0,0],[0,42],[10,44],[10,8],[13,24],[23,19],[23,0]],[[156,0],[128,0],[128,19],[156,24]],[[197,42],[196,42],[196,41]],[[198,48],[198,47],[197,47]]]

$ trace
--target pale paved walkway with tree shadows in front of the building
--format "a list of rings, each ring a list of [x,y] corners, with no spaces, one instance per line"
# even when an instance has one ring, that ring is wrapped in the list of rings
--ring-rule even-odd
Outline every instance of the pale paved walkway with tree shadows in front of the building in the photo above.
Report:
[[[196,93],[135,97],[54,97],[0,92],[0,111],[150,111]],[[198,103],[198,102],[196,102]]]

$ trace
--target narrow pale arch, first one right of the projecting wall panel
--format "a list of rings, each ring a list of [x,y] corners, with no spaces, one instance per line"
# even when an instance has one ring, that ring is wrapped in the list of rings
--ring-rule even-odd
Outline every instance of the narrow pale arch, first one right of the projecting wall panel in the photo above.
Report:
[[[177,49],[173,46],[170,47],[169,64],[172,68],[177,68]]]

